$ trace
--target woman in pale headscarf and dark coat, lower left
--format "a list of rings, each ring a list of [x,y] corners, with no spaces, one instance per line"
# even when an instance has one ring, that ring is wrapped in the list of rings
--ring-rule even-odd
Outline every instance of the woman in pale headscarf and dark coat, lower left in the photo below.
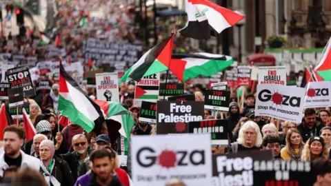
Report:
[[[53,141],[44,140],[40,143],[41,174],[45,177],[48,185],[71,186],[74,178],[68,163],[54,156],[55,147]]]

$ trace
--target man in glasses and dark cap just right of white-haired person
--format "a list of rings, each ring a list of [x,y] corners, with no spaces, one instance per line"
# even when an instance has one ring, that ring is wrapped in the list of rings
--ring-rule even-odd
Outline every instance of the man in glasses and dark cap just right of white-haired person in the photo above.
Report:
[[[281,158],[281,139],[279,136],[266,136],[263,139],[263,150],[272,150],[274,158]]]

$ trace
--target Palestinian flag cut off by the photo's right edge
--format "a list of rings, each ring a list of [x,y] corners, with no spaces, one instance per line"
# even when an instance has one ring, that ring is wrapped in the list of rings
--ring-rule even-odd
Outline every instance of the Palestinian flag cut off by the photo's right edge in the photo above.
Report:
[[[331,37],[325,46],[323,55],[319,64],[314,68],[314,71],[323,79],[324,81],[331,81]]]

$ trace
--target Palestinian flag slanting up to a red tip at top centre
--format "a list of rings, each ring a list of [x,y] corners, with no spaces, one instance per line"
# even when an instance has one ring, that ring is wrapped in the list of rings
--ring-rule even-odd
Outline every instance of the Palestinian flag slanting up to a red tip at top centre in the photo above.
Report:
[[[183,65],[171,64],[170,59],[172,54],[172,43],[174,41],[174,34],[168,39],[165,39],[161,43],[154,46],[154,48],[148,50],[137,63],[134,63],[132,67],[123,75],[119,83],[125,81],[139,81],[143,76],[149,76],[170,70],[174,72],[179,69],[183,69]]]

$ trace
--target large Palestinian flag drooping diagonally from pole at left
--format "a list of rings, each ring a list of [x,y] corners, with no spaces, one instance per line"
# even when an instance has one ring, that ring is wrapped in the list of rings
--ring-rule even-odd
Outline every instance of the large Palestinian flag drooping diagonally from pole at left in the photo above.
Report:
[[[104,117],[99,105],[81,90],[77,82],[64,70],[62,63],[59,86],[59,112],[88,133],[94,127],[96,133],[100,132]]]

